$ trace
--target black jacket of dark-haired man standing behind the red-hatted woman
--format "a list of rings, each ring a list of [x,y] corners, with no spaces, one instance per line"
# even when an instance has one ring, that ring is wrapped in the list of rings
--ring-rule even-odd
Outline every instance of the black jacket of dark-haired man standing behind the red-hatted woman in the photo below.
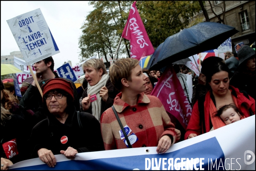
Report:
[[[55,78],[62,78],[57,75],[56,72],[53,72],[55,75]],[[70,81],[73,86],[73,92],[74,92],[74,105],[76,107],[76,110],[80,110],[79,105],[79,98],[76,92],[76,86],[70,79],[63,78],[67,81]],[[26,110],[33,110],[35,112],[33,116],[33,127],[43,119],[46,119],[46,115],[43,112],[43,101],[41,94],[39,93],[39,90],[37,87],[29,85],[28,89],[26,90],[26,93],[23,95],[22,99],[20,100],[20,105],[22,105]],[[32,128],[33,128],[32,127]]]

